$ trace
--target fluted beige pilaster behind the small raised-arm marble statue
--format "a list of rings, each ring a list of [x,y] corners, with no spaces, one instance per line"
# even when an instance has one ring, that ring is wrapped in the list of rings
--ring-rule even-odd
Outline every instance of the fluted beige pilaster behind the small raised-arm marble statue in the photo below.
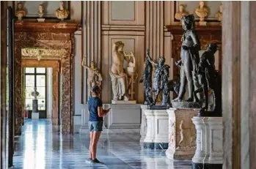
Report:
[[[83,1],[82,2],[82,58],[86,56],[85,63],[90,65],[95,61],[96,67],[101,70],[101,1]],[[82,60],[81,60],[82,61]],[[87,104],[88,72],[84,67],[82,69],[82,104]]]

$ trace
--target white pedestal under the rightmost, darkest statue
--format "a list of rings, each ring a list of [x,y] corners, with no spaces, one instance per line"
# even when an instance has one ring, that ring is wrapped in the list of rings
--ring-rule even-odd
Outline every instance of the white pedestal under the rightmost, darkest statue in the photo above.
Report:
[[[222,117],[194,117],[192,121],[197,129],[197,150],[192,168],[222,168]]]

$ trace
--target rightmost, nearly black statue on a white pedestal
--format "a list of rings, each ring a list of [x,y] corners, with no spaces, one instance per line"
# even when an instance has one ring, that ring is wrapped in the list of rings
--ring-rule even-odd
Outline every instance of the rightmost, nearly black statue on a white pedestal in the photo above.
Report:
[[[208,44],[200,58],[197,76],[200,88],[194,91],[196,102],[200,102],[197,93],[203,91],[205,96],[205,107],[200,110],[200,116],[222,116],[222,78],[215,69],[214,53],[217,51],[216,43]],[[213,92],[213,110],[208,111],[208,92]]]

